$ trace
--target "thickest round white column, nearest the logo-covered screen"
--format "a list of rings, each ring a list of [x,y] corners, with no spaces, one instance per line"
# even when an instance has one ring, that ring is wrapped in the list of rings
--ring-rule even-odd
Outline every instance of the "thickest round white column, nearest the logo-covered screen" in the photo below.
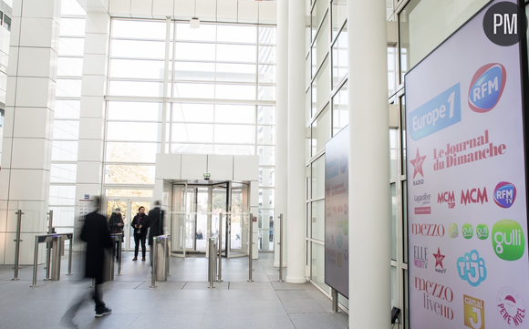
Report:
[[[391,222],[386,8],[348,0],[349,327],[388,328]],[[366,196],[377,196],[368,197]]]

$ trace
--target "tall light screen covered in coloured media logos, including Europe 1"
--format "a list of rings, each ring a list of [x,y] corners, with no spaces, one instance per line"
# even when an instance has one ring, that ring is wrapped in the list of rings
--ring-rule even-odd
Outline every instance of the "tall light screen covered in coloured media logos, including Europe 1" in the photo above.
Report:
[[[411,329],[529,328],[519,45],[488,7],[406,75]]]

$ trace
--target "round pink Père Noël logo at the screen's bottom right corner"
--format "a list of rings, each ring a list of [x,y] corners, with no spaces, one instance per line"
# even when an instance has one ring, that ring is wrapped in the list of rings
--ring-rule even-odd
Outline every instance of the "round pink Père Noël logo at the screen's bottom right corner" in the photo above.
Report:
[[[503,287],[496,296],[496,302],[505,324],[514,328],[524,324],[525,303],[520,293],[511,287]]]

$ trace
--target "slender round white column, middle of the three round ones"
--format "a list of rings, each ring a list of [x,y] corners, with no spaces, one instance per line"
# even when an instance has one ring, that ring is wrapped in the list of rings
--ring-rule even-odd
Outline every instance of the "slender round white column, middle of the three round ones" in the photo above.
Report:
[[[305,0],[288,2],[287,283],[305,283]]]

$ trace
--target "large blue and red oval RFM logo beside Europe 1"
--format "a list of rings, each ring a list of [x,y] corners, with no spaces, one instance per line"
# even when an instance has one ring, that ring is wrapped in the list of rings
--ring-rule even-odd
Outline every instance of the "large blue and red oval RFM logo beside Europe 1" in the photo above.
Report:
[[[477,113],[493,109],[502,97],[507,80],[505,67],[491,63],[480,67],[474,73],[469,89],[469,107]]]

